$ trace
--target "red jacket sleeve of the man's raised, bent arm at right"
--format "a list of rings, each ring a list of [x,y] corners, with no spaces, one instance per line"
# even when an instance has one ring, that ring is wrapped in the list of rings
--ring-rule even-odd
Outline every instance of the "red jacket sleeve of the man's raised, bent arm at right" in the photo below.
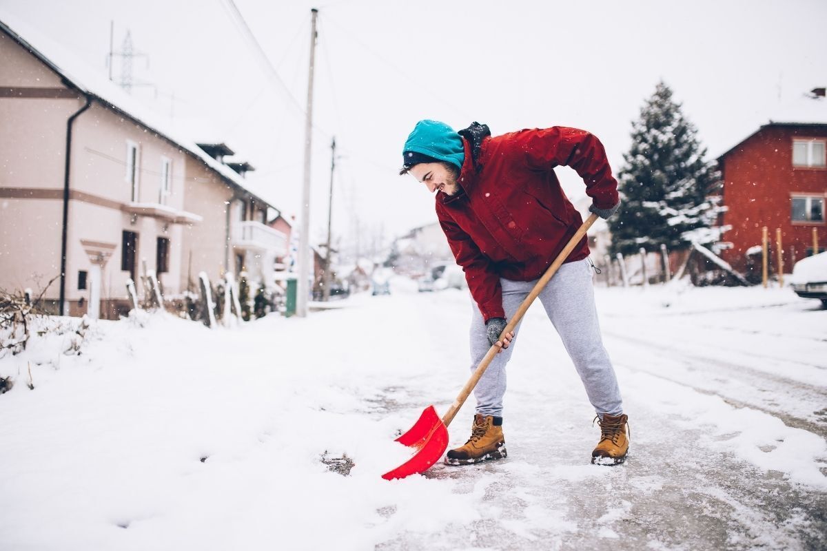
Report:
[[[517,133],[525,162],[532,169],[551,170],[558,165],[575,169],[586,183],[595,207],[611,209],[619,202],[618,183],[612,176],[606,150],[589,132],[565,126]]]

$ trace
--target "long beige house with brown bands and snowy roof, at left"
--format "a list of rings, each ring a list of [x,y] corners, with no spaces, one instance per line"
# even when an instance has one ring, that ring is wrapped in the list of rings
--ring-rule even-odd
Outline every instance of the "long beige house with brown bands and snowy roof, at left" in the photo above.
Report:
[[[200,271],[269,281],[287,246],[265,226],[275,208],[35,36],[0,21],[0,289],[113,318],[129,309],[127,280],[151,271],[166,294]]]

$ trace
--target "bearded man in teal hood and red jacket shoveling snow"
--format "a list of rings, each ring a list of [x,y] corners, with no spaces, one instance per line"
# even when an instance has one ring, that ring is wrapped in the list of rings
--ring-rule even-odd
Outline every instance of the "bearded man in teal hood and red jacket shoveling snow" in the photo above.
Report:
[[[474,389],[471,438],[448,451],[446,463],[504,458],[505,364],[514,333],[501,334],[582,224],[553,169],[575,169],[592,199],[590,211],[603,218],[619,207],[617,181],[600,141],[562,126],[491,137],[488,126],[477,122],[457,132],[443,122],[419,121],[405,142],[403,159],[400,174],[411,173],[436,192],[442,230],[476,302],[471,369],[490,346],[500,347]],[[538,298],[595,407],[600,442],[591,463],[618,464],[629,449],[627,416],[600,336],[588,255],[584,237]]]

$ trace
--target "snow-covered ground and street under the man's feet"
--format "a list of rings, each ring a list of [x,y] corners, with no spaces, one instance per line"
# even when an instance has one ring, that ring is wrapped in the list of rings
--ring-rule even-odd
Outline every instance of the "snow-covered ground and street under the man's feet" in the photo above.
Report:
[[[470,374],[472,307],[391,289],[212,330],[41,321],[0,359],[0,549],[827,548],[819,301],[596,287],[631,427],[617,467],[590,464],[594,411],[535,306],[509,363],[509,457],[389,482],[410,456],[394,438]]]

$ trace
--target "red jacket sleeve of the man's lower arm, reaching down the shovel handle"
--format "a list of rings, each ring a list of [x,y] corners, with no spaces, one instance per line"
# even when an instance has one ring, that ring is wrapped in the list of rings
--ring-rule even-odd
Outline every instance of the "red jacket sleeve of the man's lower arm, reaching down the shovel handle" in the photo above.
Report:
[[[461,230],[457,223],[437,207],[439,225],[448,238],[448,245],[457,259],[457,264],[466,274],[468,290],[480,308],[483,321],[492,317],[505,317],[503,310],[503,289],[500,276],[495,272],[490,259],[480,252],[471,236]]]

